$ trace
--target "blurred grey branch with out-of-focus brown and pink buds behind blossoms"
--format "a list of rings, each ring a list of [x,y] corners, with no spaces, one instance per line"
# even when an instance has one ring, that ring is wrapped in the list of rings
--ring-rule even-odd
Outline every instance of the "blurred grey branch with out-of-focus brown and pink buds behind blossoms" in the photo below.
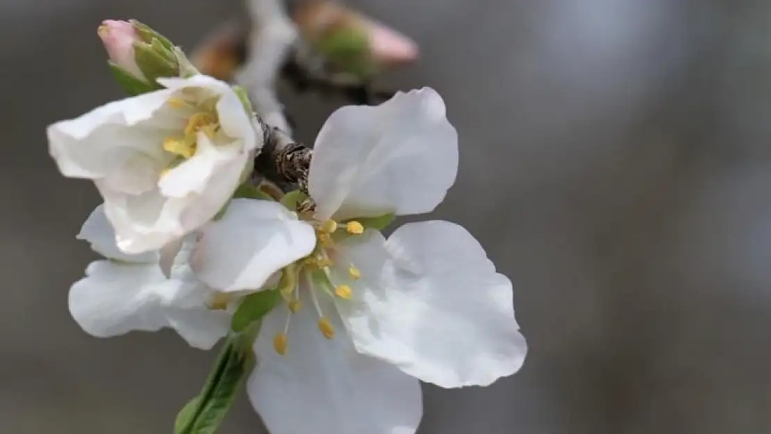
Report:
[[[247,0],[247,8],[249,23],[217,29],[194,53],[194,63],[204,74],[247,89],[264,121],[255,176],[305,191],[312,151],[291,139],[278,78],[298,92],[381,103],[394,92],[373,89],[372,79],[385,66],[416,59],[417,48],[399,32],[328,0],[291,2],[291,12],[282,0]]]

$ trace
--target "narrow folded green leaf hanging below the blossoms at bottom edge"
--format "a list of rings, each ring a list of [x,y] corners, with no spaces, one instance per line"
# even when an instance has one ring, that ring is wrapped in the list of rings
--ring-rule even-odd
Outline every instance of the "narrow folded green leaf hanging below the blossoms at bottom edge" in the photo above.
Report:
[[[182,408],[174,422],[174,434],[212,434],[233,404],[236,392],[254,367],[251,348],[241,338],[231,337],[222,348],[204,385]]]

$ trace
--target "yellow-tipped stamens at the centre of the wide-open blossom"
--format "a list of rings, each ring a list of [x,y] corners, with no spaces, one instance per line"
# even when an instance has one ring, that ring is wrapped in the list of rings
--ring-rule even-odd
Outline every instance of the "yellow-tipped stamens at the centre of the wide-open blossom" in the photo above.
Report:
[[[287,319],[284,322],[284,330],[277,333],[273,340],[273,346],[280,355],[285,355],[288,348],[288,331],[291,323],[291,317],[301,309],[301,291],[299,281],[303,279],[306,283],[307,297],[318,315],[318,330],[327,339],[335,337],[335,328],[324,315],[321,304],[318,302],[319,294],[350,300],[353,296],[353,290],[348,284],[332,284],[332,273],[336,275],[341,273],[339,267],[345,267],[345,273],[351,281],[357,281],[362,278],[362,272],[354,264],[337,264],[335,262],[336,247],[335,238],[342,235],[345,231],[351,235],[361,235],[364,233],[364,227],[358,221],[352,220],[340,223],[335,220],[311,220],[311,224],[316,231],[315,250],[299,261],[292,267],[284,269],[285,280],[281,283],[281,295],[284,298],[287,311]],[[306,291],[303,291],[306,292]],[[305,294],[304,294],[305,295]]]

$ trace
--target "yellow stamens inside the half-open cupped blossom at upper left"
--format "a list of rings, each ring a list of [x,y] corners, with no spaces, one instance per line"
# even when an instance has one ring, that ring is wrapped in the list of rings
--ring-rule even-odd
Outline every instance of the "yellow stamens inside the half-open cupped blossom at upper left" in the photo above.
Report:
[[[209,101],[195,106],[180,97],[173,97],[167,101],[167,104],[175,109],[192,109],[194,113],[187,119],[187,126],[179,136],[169,136],[163,140],[163,150],[170,153],[173,158],[161,176],[195,155],[198,148],[198,133],[204,133],[213,139],[221,128],[214,104]]]

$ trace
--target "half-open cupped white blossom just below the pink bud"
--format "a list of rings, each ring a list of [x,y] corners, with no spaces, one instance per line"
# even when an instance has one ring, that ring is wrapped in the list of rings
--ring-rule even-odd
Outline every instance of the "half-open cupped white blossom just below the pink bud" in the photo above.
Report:
[[[211,220],[261,147],[231,86],[207,76],[49,126],[66,177],[93,180],[121,251],[155,251]]]

